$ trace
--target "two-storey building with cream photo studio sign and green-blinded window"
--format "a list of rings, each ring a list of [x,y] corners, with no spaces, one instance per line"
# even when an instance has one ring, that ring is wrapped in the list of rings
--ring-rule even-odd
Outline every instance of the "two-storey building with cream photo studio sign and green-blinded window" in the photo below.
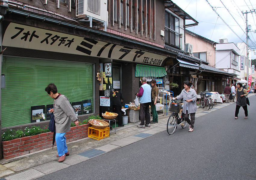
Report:
[[[133,102],[142,76],[178,82],[178,94],[201,62],[184,53],[198,22],[173,1],[5,0],[0,13],[2,127],[45,123],[49,83],[83,120],[112,111],[112,88]]]

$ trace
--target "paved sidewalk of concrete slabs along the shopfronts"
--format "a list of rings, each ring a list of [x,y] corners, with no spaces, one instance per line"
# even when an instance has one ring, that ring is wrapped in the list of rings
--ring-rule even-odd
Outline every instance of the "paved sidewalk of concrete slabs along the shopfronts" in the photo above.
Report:
[[[254,94],[249,94],[248,97],[252,95]],[[211,110],[198,108],[195,117],[203,116],[230,104],[233,103],[217,103]],[[114,134],[113,129],[110,131],[110,136],[102,140],[85,138],[83,140],[67,143],[70,155],[67,156],[62,163],[59,163],[56,157],[56,146],[53,149],[30,153],[29,155],[19,156],[18,158],[9,160],[2,159],[0,160],[0,178],[3,180],[31,180],[87,161],[90,158],[127,146],[159,132],[166,131],[166,123],[169,115],[170,113],[168,113],[168,116],[166,116],[165,113],[163,116],[158,116],[158,123],[151,124],[150,128],[137,128],[136,126],[140,122],[130,123],[121,128],[117,127],[116,134]]]

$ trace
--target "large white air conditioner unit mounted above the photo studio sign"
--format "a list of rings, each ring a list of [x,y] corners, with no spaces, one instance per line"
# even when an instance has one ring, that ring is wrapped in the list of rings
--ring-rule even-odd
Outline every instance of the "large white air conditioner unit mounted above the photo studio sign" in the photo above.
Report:
[[[107,0],[77,0],[76,17],[85,16],[108,22]]]

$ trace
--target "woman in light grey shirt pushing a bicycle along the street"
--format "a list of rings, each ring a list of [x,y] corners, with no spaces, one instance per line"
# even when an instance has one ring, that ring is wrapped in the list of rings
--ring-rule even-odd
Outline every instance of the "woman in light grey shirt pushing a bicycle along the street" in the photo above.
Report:
[[[180,95],[178,95],[175,99],[183,99],[183,113],[186,122],[189,123],[189,132],[194,130],[195,124],[195,112],[196,112],[196,92],[191,88],[191,83],[189,81],[184,81],[184,89],[181,91]],[[189,114],[191,121],[189,119]]]

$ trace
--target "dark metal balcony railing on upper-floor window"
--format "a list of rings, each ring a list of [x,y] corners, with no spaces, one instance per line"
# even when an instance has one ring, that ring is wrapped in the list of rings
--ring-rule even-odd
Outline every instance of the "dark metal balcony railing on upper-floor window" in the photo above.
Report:
[[[180,33],[164,27],[164,44],[182,49],[182,37]]]

